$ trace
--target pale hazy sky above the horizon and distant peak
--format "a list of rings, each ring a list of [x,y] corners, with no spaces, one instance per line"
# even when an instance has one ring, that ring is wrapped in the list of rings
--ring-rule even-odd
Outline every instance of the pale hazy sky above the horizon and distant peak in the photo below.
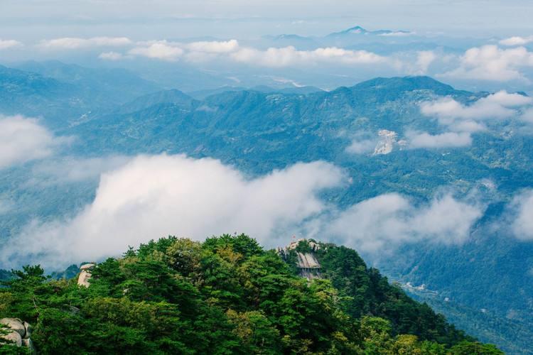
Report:
[[[325,35],[349,26],[456,35],[522,35],[531,1],[1,0],[0,37],[124,35],[136,39]]]

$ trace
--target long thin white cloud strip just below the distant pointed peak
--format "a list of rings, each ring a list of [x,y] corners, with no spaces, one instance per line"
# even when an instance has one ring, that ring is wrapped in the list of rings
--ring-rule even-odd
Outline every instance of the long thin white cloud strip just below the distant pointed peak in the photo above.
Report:
[[[386,62],[387,59],[366,50],[345,50],[343,48],[317,48],[316,50],[296,50],[293,46],[257,50],[241,48],[230,57],[237,62],[264,67],[289,67],[295,65],[330,64],[372,64]]]

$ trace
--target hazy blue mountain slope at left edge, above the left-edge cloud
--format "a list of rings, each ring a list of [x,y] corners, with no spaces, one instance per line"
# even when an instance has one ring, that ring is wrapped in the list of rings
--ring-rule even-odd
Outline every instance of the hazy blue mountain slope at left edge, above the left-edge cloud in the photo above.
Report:
[[[55,129],[158,90],[127,70],[90,69],[62,62],[0,66],[0,112],[43,117]]]

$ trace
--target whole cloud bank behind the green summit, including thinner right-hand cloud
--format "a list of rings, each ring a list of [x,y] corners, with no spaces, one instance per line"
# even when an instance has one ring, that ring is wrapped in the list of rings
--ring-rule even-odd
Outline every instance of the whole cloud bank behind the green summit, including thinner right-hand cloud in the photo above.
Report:
[[[363,251],[421,240],[462,243],[483,213],[451,194],[421,206],[387,194],[345,210],[321,197],[347,181],[342,170],[321,161],[250,179],[210,158],[140,155],[104,173],[95,200],[75,217],[26,226],[0,247],[0,267],[28,258],[55,268],[58,261],[98,260],[169,234],[204,239],[237,231],[276,246],[303,233]]]

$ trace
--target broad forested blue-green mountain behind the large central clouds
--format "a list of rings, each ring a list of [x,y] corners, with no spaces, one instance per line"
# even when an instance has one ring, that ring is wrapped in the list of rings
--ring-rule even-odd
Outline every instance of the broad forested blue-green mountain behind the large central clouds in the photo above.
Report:
[[[348,190],[330,196],[341,208],[391,191],[429,201],[442,186],[466,193],[483,188],[480,180],[486,178],[510,196],[517,188],[533,184],[528,168],[533,152],[528,153],[531,146],[525,143],[530,138],[520,134],[504,139],[497,129],[475,133],[470,148],[406,150],[393,143],[392,151],[384,155],[346,152],[350,137],[360,131],[375,134],[385,129],[395,132],[398,139],[409,130],[440,133],[442,127],[420,113],[420,102],[448,96],[468,103],[485,95],[456,90],[429,77],[377,78],[306,96],[222,92],[198,102],[190,111],[161,104],[124,116],[104,116],[71,133],[85,137],[82,149],[87,152],[185,152],[218,158],[252,174],[301,160],[328,160],[353,178]],[[494,146],[500,148],[495,151]],[[510,156],[515,158],[503,158]],[[508,161],[506,168],[492,164],[499,159]],[[494,207],[501,204],[493,203]],[[404,283],[426,283],[461,304],[486,308],[498,317],[512,310],[527,318],[532,315],[527,305],[533,289],[524,280],[524,270],[531,267],[526,256],[533,247],[490,233],[490,220],[503,213],[499,211],[488,209],[490,218],[461,246],[413,244],[390,257],[368,258]],[[499,267],[493,268],[495,264]],[[505,278],[499,277],[502,274]],[[476,286],[461,286],[465,284]],[[515,293],[515,288],[520,292]],[[488,292],[490,300],[480,297]]]

